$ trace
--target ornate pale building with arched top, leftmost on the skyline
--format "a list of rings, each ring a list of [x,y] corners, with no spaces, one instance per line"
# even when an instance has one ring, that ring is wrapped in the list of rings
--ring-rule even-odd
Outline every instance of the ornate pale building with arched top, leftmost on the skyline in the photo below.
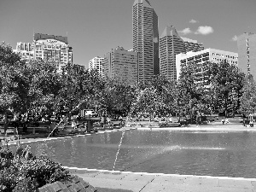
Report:
[[[26,62],[32,60],[54,61],[57,72],[67,66],[73,65],[73,49],[67,42],[67,37],[35,33],[32,44],[17,43],[16,53]]]

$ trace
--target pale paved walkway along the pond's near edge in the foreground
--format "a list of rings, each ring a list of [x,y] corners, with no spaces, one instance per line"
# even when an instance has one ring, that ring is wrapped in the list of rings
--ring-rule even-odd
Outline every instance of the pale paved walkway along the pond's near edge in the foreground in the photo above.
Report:
[[[256,179],[70,169],[94,187],[134,192],[253,192]],[[103,191],[103,190],[102,190]]]

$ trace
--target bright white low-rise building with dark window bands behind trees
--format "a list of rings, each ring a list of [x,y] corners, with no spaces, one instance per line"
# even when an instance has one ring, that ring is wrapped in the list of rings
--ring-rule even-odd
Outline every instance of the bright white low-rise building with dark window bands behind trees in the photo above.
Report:
[[[219,63],[224,60],[238,67],[238,54],[230,51],[209,48],[197,52],[190,51],[185,54],[178,54],[176,55],[177,79],[181,72],[181,67],[183,66],[195,64],[199,67],[198,73],[204,73],[201,69],[201,65],[205,62],[212,61]]]

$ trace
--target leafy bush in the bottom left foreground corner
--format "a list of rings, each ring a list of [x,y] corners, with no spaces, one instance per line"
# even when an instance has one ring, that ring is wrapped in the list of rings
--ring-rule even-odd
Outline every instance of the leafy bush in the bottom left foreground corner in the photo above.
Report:
[[[18,147],[16,153],[0,146],[0,191],[30,192],[47,183],[70,179],[70,172],[46,156],[35,157],[30,148]]]

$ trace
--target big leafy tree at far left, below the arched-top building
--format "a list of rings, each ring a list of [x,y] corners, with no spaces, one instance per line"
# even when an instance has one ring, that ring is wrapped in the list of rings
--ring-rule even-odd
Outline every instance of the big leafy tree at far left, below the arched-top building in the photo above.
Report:
[[[3,112],[41,112],[52,107],[60,87],[55,63],[20,61],[9,45],[0,46],[0,107]]]

